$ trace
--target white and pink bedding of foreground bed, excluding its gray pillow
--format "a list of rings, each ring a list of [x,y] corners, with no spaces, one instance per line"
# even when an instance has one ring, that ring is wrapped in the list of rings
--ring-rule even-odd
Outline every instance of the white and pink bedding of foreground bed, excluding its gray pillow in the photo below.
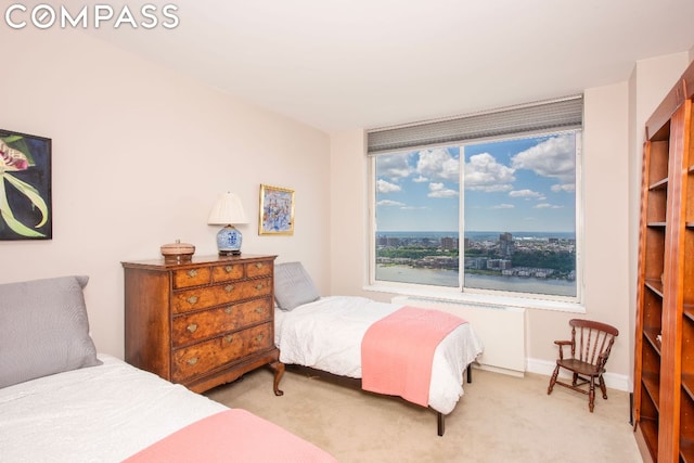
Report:
[[[245,410],[99,359],[0,389],[0,461],[336,462]]]

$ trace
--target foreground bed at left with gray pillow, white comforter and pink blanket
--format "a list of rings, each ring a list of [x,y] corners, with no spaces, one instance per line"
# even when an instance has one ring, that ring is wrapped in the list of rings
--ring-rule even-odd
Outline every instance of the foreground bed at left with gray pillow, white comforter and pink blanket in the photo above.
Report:
[[[0,461],[336,462],[245,410],[98,355],[86,284],[0,284]]]

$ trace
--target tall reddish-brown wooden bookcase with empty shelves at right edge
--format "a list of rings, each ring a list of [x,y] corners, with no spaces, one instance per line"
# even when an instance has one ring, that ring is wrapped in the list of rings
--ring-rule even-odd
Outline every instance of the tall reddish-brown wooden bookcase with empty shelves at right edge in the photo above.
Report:
[[[694,462],[694,64],[646,123],[634,429],[644,461]]]

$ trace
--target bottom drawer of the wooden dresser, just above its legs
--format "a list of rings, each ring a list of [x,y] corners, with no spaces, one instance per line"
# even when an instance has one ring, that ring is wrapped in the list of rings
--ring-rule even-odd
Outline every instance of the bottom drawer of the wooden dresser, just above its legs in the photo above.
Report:
[[[174,382],[181,383],[273,347],[272,323],[220,336],[174,351]]]

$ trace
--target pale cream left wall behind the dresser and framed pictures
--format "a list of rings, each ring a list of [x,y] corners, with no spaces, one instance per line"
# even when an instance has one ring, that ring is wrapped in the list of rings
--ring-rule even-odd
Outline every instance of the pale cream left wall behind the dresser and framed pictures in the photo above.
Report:
[[[53,239],[0,242],[0,282],[88,274],[100,351],[124,352],[120,261],[176,239],[216,253],[207,215],[237,193],[243,252],[303,260],[330,284],[326,133],[79,31],[0,28],[0,128],[53,141]],[[261,183],[296,194],[294,236],[258,236]]]

